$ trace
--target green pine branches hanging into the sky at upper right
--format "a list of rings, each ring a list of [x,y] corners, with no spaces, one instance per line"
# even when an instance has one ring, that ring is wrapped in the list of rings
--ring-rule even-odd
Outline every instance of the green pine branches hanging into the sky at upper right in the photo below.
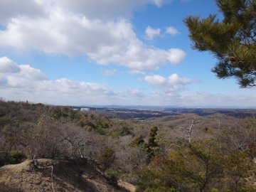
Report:
[[[256,0],[217,0],[220,21],[210,14],[185,19],[193,48],[209,51],[218,59],[218,78],[236,78],[240,87],[256,86]]]

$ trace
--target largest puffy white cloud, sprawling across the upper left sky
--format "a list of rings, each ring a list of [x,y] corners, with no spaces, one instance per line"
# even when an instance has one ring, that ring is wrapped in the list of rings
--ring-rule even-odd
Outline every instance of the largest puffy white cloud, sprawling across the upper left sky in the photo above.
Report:
[[[13,0],[14,1],[14,0]],[[28,0],[27,0],[28,1]],[[32,0],[31,0],[32,1]],[[166,63],[180,63],[186,54],[178,48],[169,50],[152,48],[140,41],[133,31],[132,23],[127,19],[107,19],[90,17],[86,10],[105,1],[36,1],[44,7],[46,16],[14,16],[0,31],[1,46],[21,50],[38,50],[44,53],[65,55],[86,55],[101,65],[123,65],[131,70],[157,70]],[[48,4],[46,4],[48,2]],[[51,3],[50,3],[51,2]],[[66,11],[68,5],[71,11]],[[109,1],[108,1],[109,2]],[[112,0],[121,6],[120,0]],[[138,6],[156,4],[165,1],[125,1],[123,4]],[[127,3],[129,2],[129,3]],[[123,5],[124,6],[124,5]],[[109,9],[99,6],[98,9]],[[117,6],[113,6],[117,9]],[[91,9],[94,10],[94,9]],[[96,10],[97,12],[97,10]],[[99,11],[101,12],[101,11]],[[22,13],[21,13],[22,14]],[[150,32],[149,32],[150,34]],[[156,36],[152,35],[151,37]]]

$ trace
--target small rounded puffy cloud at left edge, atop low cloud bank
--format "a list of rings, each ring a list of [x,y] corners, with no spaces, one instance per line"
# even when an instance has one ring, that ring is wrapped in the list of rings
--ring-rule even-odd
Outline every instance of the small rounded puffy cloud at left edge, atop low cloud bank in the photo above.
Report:
[[[6,57],[0,58],[0,73],[18,73],[20,71],[21,68],[14,61]]]

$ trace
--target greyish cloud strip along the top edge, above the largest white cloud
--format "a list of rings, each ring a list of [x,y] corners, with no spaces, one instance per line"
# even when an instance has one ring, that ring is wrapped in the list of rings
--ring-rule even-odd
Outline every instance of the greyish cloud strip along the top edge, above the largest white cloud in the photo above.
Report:
[[[171,0],[1,0],[0,23],[18,17],[47,16],[51,9],[88,18],[113,19],[129,17],[134,9],[143,8],[146,4],[162,6],[169,2]]]

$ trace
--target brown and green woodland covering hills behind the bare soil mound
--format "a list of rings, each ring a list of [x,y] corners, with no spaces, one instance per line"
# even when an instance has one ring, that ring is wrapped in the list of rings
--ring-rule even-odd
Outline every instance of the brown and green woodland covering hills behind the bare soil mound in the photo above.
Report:
[[[193,124],[191,124],[193,122]],[[189,142],[186,130],[192,126]],[[255,191],[256,121],[222,115],[108,119],[28,102],[0,102],[0,164],[87,159],[137,191]]]

